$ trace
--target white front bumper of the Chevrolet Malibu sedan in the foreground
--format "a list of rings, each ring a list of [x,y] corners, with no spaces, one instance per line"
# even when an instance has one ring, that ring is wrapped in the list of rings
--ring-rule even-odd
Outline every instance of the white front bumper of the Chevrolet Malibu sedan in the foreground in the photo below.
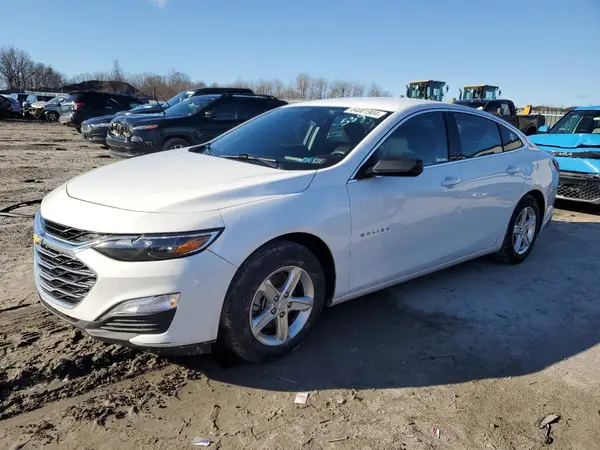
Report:
[[[76,206],[76,203],[85,204],[73,199],[69,203],[71,205],[61,205],[62,208]],[[57,206],[50,210],[49,220],[60,223],[60,219],[53,214],[62,208]],[[107,215],[111,210],[91,204],[83,208],[88,211],[96,209],[93,215]],[[42,214],[46,215],[44,205]],[[119,211],[118,214],[123,215],[123,212]],[[133,215],[131,212],[125,214]],[[122,217],[113,219],[113,223],[119,223]],[[198,353],[206,351],[206,344],[216,340],[225,294],[237,268],[210,249],[174,260],[122,262],[110,259],[89,246],[73,248],[56,240],[45,233],[39,219],[36,220],[34,231],[37,236],[34,244],[34,274],[41,303],[73,326],[103,341],[161,353]],[[94,282],[89,283],[92,284],[91,288],[81,300],[69,304],[57,299],[61,290],[68,291],[68,286],[60,284],[56,296],[53,296],[53,291],[48,292],[48,286],[40,274],[39,246],[50,246],[54,251],[65,252],[96,274]],[[58,276],[62,278],[60,274]],[[115,319],[118,316],[107,316],[108,311],[124,301],[175,292],[180,294],[179,304],[170,315],[136,315],[118,320]]]

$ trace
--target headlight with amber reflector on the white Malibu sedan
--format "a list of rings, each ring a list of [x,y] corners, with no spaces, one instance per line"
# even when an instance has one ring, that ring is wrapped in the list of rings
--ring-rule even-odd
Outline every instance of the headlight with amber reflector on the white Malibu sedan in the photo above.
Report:
[[[222,231],[219,228],[196,233],[109,237],[93,248],[118,261],[161,261],[199,253],[212,244]]]

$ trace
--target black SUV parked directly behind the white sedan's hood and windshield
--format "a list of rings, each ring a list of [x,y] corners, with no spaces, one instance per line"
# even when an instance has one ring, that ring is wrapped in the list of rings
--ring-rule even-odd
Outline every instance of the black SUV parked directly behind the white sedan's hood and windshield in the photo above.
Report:
[[[269,95],[194,96],[162,113],[115,117],[106,144],[111,154],[122,158],[202,144],[286,104]]]

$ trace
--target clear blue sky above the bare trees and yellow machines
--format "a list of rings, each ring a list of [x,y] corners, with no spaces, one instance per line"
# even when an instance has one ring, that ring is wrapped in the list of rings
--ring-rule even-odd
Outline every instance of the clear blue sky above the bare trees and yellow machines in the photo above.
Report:
[[[1,0],[0,46],[75,75],[495,84],[517,104],[600,104],[600,0]],[[14,20],[13,20],[14,19]],[[43,20],[41,20],[43,19]]]

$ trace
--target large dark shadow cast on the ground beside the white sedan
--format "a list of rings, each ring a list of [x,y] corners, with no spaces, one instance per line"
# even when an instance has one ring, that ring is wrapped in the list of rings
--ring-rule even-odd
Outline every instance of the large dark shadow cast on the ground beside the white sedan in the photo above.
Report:
[[[553,221],[523,264],[481,258],[327,308],[267,365],[178,364],[266,390],[397,388],[540,371],[600,341],[600,223]]]

